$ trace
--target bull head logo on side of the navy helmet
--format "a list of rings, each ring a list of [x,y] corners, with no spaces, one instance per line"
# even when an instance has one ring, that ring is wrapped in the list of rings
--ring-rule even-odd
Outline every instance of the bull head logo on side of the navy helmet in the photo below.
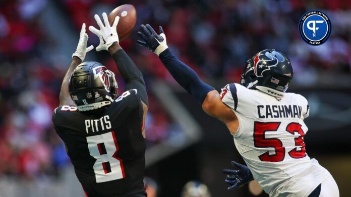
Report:
[[[260,56],[263,56],[260,58]],[[268,59],[267,59],[268,58]],[[270,70],[270,67],[276,66],[279,62],[283,62],[285,58],[275,51],[258,53],[254,57],[254,72],[256,76],[263,76],[262,73]]]

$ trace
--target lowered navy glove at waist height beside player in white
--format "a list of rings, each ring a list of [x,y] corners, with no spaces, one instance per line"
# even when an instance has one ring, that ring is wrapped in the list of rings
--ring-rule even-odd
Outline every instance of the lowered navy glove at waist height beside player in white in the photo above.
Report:
[[[231,161],[231,165],[236,166],[239,170],[222,170],[227,175],[225,182],[230,184],[228,189],[238,188],[252,180],[254,180],[250,169],[246,165],[242,165],[235,161]]]

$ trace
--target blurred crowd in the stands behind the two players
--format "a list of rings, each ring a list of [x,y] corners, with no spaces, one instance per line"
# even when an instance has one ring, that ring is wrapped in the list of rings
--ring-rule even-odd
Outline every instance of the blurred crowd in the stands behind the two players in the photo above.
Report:
[[[121,45],[141,69],[147,86],[154,79],[170,83],[174,80],[156,55],[136,44],[136,31],[145,23],[155,29],[161,25],[171,50],[208,79],[238,82],[247,59],[265,48],[287,53],[299,84],[313,83],[320,72],[351,73],[351,1],[1,1],[0,174],[55,174],[56,169],[69,163],[51,123],[69,65],[50,58],[47,50],[62,44],[45,34],[38,23],[48,4],[54,4],[67,17],[71,24],[67,28],[74,29],[76,35],[72,36],[77,43],[83,22],[87,27],[96,26],[94,14],[133,4],[138,21],[134,32]],[[313,8],[325,12],[333,27],[329,40],[319,47],[307,45],[298,32],[300,17]],[[98,38],[88,34],[88,45],[97,46]],[[62,55],[69,59],[73,50]],[[95,61],[116,73],[122,93],[123,80],[113,60],[105,54],[98,55]],[[146,131],[152,145],[177,132],[177,126],[157,105],[152,91],[148,92]]]

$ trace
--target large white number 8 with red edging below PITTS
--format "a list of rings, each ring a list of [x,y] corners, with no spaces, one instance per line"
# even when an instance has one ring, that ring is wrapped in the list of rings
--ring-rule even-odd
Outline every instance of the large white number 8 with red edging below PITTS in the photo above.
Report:
[[[87,142],[90,155],[96,159],[93,168],[97,183],[126,177],[123,161],[116,156],[119,146],[114,131],[88,136]]]

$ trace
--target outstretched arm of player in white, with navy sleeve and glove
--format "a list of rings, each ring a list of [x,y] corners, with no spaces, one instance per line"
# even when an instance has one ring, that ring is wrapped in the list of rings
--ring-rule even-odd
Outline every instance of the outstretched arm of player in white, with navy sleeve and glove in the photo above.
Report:
[[[221,102],[219,92],[204,83],[194,70],[170,52],[162,28],[159,27],[159,30],[158,35],[150,25],[141,25],[141,32],[138,32],[141,40],[138,40],[138,44],[159,56],[173,78],[195,97],[208,115],[222,120],[228,128],[231,124],[238,124],[236,115]]]

